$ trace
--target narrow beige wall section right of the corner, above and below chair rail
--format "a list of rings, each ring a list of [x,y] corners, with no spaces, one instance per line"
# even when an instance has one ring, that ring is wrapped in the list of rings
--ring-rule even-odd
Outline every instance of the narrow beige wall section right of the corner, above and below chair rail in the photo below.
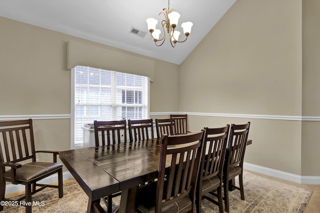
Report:
[[[302,115],[320,116],[320,1],[302,1]],[[302,174],[319,175],[319,121],[302,122]]]

